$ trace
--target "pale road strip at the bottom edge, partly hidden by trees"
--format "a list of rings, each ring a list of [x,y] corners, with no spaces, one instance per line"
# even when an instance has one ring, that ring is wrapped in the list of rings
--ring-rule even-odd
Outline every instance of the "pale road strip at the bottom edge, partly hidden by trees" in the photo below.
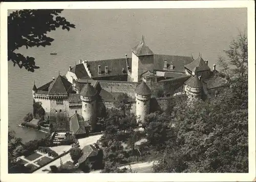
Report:
[[[153,167],[154,162],[145,162],[145,163],[136,163],[136,164],[131,164],[126,165],[126,166],[122,166],[121,168],[129,168],[131,167],[131,169],[133,170],[133,172],[137,172],[137,173],[151,173],[154,172],[152,167]],[[90,173],[100,173],[101,170],[97,170],[97,171],[93,171]]]

